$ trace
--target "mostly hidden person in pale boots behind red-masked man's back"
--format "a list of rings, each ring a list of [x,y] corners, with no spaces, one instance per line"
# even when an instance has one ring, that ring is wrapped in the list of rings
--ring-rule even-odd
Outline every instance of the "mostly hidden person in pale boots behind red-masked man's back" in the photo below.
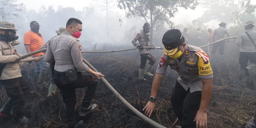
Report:
[[[59,30],[56,30],[55,32],[57,33],[57,36],[59,36],[59,35],[61,35],[65,30],[66,30],[65,27],[60,27]],[[55,37],[56,37],[56,36],[55,36]],[[48,43],[49,43],[49,41],[47,41],[45,45],[41,46],[40,49],[47,48]],[[50,71],[51,71],[52,80],[51,80],[51,84],[50,84],[49,89],[48,89],[47,97],[52,96],[52,94],[55,94],[56,89],[57,89],[57,86],[56,86],[56,84],[55,84],[55,82],[54,82],[54,78],[53,78],[53,76],[54,76],[54,65],[55,65],[55,61],[50,62],[49,65],[50,65]]]

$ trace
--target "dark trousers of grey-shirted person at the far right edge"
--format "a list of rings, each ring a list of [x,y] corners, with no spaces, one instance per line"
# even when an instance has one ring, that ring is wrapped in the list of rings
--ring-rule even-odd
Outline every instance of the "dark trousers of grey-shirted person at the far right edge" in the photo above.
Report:
[[[239,54],[239,64],[241,66],[241,70],[246,71],[246,76],[250,76],[250,73],[246,68],[248,61],[256,64],[256,52],[240,52]]]

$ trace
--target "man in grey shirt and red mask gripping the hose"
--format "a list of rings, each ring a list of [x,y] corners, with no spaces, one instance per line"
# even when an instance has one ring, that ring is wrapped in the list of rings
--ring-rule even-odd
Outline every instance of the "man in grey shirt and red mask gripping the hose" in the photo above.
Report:
[[[92,71],[82,62],[82,46],[77,38],[81,36],[82,22],[70,18],[66,23],[66,31],[53,37],[47,46],[46,62],[55,61],[54,79],[65,102],[65,116],[68,126],[73,127],[75,121],[75,88],[87,87],[82,101],[80,116],[85,116],[97,109],[97,104],[91,104],[101,73]],[[88,75],[91,73],[92,75]]]

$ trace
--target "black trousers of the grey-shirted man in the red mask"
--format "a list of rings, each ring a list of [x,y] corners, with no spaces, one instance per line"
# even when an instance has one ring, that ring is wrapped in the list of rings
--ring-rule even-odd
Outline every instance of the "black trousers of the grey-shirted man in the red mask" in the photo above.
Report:
[[[88,107],[94,97],[97,89],[98,80],[86,73],[77,73],[77,82],[68,83],[65,73],[54,72],[54,79],[57,87],[62,93],[65,103],[65,117],[67,122],[72,122],[75,118],[75,104],[76,104],[76,88],[87,87],[86,93],[83,98],[82,107]]]

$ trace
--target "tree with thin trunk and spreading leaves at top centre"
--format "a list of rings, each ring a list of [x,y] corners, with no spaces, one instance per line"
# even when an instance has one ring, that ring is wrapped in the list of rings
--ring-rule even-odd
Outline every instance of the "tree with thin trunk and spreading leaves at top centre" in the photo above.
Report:
[[[169,26],[170,21],[178,7],[195,9],[197,0],[118,0],[118,8],[126,11],[126,17],[142,17],[146,22],[150,21],[150,45],[153,43],[153,28],[157,22],[165,21]]]

